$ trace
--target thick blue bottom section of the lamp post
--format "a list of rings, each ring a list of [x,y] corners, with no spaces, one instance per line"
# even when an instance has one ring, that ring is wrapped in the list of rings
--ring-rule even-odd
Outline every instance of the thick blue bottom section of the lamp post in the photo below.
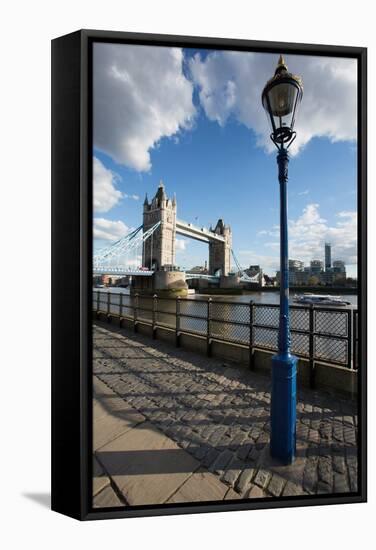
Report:
[[[295,459],[297,362],[289,353],[272,357],[270,453],[284,464]]]

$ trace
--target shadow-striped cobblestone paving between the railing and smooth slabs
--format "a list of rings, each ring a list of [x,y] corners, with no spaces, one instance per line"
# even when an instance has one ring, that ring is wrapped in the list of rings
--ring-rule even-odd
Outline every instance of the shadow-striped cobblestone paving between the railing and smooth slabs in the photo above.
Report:
[[[355,402],[300,389],[297,457],[286,466],[269,454],[268,377],[101,323],[93,362],[94,375],[237,498],[357,491]]]

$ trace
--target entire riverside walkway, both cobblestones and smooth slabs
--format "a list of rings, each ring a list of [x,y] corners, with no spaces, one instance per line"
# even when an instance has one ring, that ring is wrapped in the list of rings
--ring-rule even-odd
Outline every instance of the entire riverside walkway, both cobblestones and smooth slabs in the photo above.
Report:
[[[356,402],[298,390],[297,457],[269,454],[270,380],[95,322],[94,506],[357,491]]]

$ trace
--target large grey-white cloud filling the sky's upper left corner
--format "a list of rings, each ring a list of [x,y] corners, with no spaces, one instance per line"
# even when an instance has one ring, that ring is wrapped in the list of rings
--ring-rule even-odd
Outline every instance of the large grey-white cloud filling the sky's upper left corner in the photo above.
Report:
[[[193,86],[179,48],[94,45],[94,145],[137,171],[150,150],[190,128]]]

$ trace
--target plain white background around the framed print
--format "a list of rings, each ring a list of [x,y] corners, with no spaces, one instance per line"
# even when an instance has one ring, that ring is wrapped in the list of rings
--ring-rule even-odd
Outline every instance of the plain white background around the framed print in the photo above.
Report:
[[[2,4],[1,22],[0,521],[4,548],[316,550],[355,548],[361,539],[369,547],[365,541],[374,538],[376,512],[372,347],[368,504],[80,524],[25,495],[46,500],[50,482],[50,39],[79,28],[98,28],[367,46],[372,243],[376,229],[372,3],[12,0]],[[370,273],[375,273],[372,248]],[[372,291],[370,307],[375,305],[373,298]],[[374,330],[373,315],[370,340]]]

